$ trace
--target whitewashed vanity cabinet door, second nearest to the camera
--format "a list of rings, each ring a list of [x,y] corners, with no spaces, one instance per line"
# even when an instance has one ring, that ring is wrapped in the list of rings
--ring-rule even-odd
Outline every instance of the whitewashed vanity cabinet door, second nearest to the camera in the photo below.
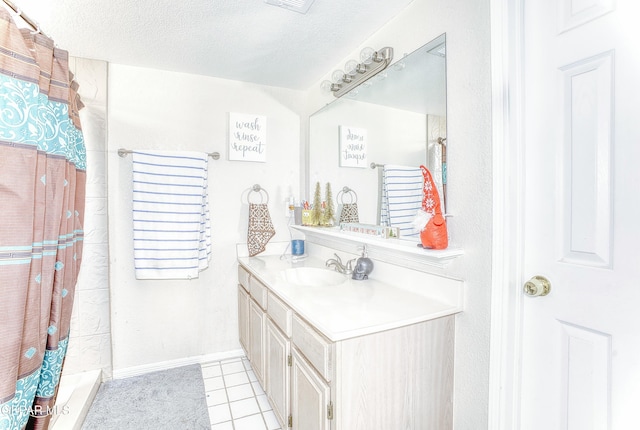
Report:
[[[265,385],[280,426],[287,427],[289,417],[289,352],[291,342],[273,321],[267,318],[265,330]]]

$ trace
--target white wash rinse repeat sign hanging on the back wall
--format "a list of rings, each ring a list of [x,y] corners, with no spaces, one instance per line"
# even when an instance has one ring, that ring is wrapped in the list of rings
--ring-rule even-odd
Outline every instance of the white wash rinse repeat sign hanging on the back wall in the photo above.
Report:
[[[229,112],[229,160],[267,161],[267,118]]]

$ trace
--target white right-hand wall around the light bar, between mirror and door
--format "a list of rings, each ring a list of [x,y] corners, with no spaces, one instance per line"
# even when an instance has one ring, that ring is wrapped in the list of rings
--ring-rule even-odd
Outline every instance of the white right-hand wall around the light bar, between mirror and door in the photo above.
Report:
[[[447,34],[447,212],[451,245],[464,256],[445,270],[466,283],[465,312],[456,317],[456,429],[488,425],[491,310],[491,63],[489,0],[414,0],[360,49],[392,46],[396,56]],[[333,96],[320,82],[309,90],[308,111]]]

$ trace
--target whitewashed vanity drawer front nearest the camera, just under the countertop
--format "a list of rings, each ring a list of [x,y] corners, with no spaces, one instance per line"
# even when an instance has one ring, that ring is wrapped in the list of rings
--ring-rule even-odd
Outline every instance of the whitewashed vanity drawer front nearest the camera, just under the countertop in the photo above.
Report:
[[[296,347],[327,381],[331,381],[334,343],[293,315],[292,340]]]

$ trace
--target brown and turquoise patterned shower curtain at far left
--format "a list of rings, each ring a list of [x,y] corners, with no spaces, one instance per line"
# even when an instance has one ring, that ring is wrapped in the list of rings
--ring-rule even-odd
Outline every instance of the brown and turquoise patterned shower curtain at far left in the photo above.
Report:
[[[82,256],[81,107],[67,52],[0,8],[1,430],[65,413],[54,403]]]

